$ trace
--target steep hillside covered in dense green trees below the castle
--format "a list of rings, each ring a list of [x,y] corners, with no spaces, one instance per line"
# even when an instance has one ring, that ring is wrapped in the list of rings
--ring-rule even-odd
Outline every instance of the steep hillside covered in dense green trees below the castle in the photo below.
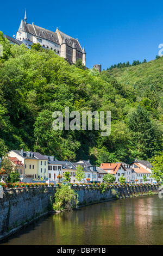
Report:
[[[23,148],[100,164],[152,161],[162,151],[163,58],[99,74],[70,66],[51,50],[10,45],[3,33],[0,44],[0,156]],[[111,111],[111,135],[54,131],[52,113],[64,113],[65,106]]]

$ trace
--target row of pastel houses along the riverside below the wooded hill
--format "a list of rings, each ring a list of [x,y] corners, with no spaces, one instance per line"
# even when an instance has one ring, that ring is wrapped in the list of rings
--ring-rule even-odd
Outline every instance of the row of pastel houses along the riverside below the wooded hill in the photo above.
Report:
[[[71,182],[78,182],[76,179],[77,166],[83,166],[86,182],[102,182],[104,175],[111,173],[115,176],[115,182],[120,182],[120,176],[124,176],[127,182],[143,182],[143,176],[146,175],[147,181],[155,182],[152,178],[152,164],[148,161],[135,159],[134,163],[102,163],[100,167],[91,164],[90,160],[80,160],[78,162],[59,161],[54,156],[41,155],[33,151],[11,150],[7,154],[8,159],[20,175],[32,175],[36,180],[59,181],[60,174],[62,178],[65,172],[70,172]],[[136,181],[137,180],[137,181]]]

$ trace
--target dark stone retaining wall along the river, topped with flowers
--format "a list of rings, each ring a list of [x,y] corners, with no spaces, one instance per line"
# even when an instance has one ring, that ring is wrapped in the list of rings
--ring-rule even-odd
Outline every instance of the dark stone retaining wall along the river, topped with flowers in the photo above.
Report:
[[[101,193],[99,188],[72,187],[78,192],[79,205],[92,204],[118,198],[147,195],[150,191],[159,192],[158,185],[138,187],[116,187]],[[51,196],[55,187],[32,187],[4,190],[0,198],[0,240],[10,230],[23,225],[35,217],[48,213]]]

